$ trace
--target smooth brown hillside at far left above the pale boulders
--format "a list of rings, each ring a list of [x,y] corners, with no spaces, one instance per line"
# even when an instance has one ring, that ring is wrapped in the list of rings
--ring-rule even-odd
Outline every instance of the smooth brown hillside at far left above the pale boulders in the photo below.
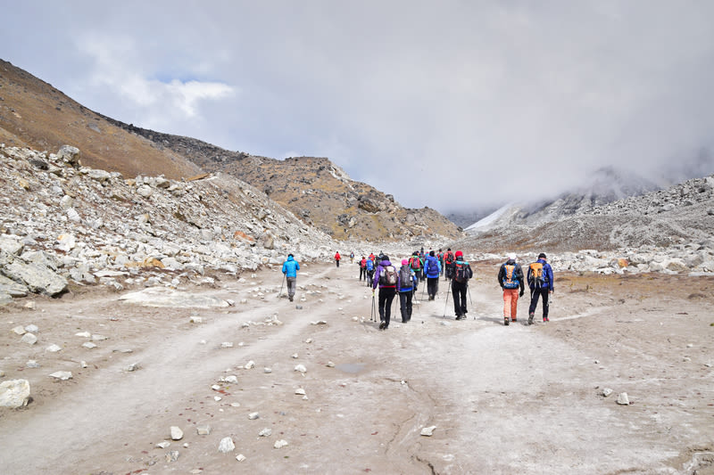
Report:
[[[164,175],[179,179],[201,169],[145,137],[116,127],[52,85],[0,60],[0,140],[56,152],[78,147],[82,164],[127,177]]]

